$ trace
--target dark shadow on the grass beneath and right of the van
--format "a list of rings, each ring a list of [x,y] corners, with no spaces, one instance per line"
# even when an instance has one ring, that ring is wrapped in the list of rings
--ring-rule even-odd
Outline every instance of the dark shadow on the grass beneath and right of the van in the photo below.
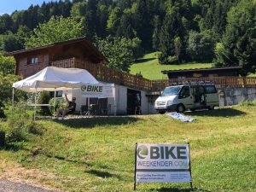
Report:
[[[186,114],[196,115],[196,116],[212,116],[212,117],[235,117],[235,116],[243,115],[246,113],[234,108],[219,108],[214,110],[187,112]]]

